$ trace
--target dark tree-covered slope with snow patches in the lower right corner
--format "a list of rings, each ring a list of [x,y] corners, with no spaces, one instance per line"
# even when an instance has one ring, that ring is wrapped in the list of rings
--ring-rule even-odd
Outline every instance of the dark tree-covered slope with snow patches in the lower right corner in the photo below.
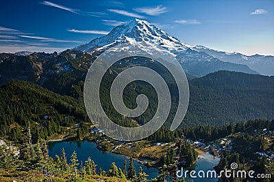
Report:
[[[216,172],[220,173],[224,168],[231,169],[230,164],[236,162],[237,170],[250,171],[256,174],[265,174],[263,181],[273,181],[273,140],[274,140],[274,120],[264,121],[256,119],[247,123],[238,123],[235,130],[229,136],[232,140],[232,149],[225,150],[221,154],[219,165],[215,167]],[[261,155],[263,154],[263,155]],[[266,175],[267,174],[267,175]],[[222,179],[225,179],[223,176]],[[262,181],[260,179],[260,181]],[[233,177],[232,181],[252,181],[249,177]]]

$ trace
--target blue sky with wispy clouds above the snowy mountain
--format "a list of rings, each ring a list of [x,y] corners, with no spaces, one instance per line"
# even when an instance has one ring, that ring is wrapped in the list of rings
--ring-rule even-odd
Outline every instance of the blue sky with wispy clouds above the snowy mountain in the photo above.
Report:
[[[190,45],[274,55],[274,1],[2,0],[0,52],[53,52],[139,18]]]

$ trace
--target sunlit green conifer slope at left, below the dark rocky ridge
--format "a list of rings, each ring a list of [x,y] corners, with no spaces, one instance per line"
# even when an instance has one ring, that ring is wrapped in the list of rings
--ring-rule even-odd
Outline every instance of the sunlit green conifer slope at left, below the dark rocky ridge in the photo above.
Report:
[[[30,82],[12,81],[0,87],[0,136],[15,142],[30,127],[33,141],[46,139],[65,127],[88,121],[84,106],[69,96],[62,96]]]

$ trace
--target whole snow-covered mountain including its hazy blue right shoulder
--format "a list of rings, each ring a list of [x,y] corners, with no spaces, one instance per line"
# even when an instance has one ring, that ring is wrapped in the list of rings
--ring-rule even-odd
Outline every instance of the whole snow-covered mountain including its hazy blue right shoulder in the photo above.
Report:
[[[184,44],[162,31],[155,25],[145,20],[134,19],[114,27],[108,35],[91,40],[88,44],[83,44],[74,48],[84,52],[95,52],[105,50],[123,43],[135,44],[136,42],[145,42],[148,46],[161,46],[173,54],[188,74],[192,76],[204,76],[211,72],[219,70],[228,70],[236,72],[245,72],[249,74],[258,74],[251,70],[247,65],[236,63],[227,63],[212,57],[206,52],[199,52],[188,44]]]

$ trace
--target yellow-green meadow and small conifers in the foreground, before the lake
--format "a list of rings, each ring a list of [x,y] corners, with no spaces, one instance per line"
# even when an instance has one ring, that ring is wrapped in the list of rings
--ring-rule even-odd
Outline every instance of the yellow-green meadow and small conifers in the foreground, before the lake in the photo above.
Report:
[[[36,145],[32,145],[32,136],[24,139],[22,147],[8,145],[1,140],[0,145],[0,179],[1,181],[134,181],[145,182],[147,175],[138,171],[134,167],[133,158],[129,161],[129,168],[125,160],[123,169],[118,168],[114,162],[108,171],[101,170],[97,164],[88,157],[84,164],[80,164],[77,153],[74,151],[67,160],[66,152],[62,149],[62,155],[49,157],[48,147],[45,140],[38,140]],[[165,181],[167,177],[175,177],[174,166],[178,160],[185,157],[186,141],[181,138],[177,142],[177,153],[174,149],[169,149],[162,158],[159,176],[150,181]],[[92,154],[91,154],[92,155]],[[195,156],[197,157],[197,153]],[[99,170],[97,169],[99,168]]]

